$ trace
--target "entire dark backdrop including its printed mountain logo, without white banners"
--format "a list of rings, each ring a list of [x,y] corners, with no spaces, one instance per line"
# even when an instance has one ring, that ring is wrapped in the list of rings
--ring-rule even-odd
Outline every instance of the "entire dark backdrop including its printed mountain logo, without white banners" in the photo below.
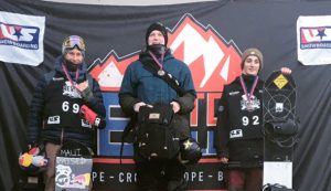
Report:
[[[120,137],[128,118],[117,92],[128,64],[145,47],[149,24],[162,22],[175,57],[190,67],[197,92],[191,132],[203,148],[203,159],[189,167],[190,190],[222,190],[223,170],[213,147],[214,105],[223,85],[241,73],[242,51],[263,51],[264,78],[289,66],[297,81],[300,142],[293,161],[296,190],[328,190],[330,177],[330,65],[303,66],[297,61],[296,21],[299,15],[329,14],[331,2],[217,1],[177,6],[111,7],[40,2],[0,2],[0,11],[45,17],[44,62],[39,66],[0,63],[1,190],[19,190],[18,155],[26,147],[26,117],[36,81],[53,67],[64,38],[85,39],[89,73],[102,87],[107,127],[97,131],[93,181],[95,190],[135,190],[132,148],[125,145],[119,163]],[[32,55],[28,55],[32,56]]]

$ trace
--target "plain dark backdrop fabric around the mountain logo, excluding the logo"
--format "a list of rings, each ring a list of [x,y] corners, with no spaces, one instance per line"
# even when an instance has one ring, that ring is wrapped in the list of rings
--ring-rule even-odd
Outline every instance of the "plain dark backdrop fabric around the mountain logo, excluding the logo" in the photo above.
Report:
[[[328,15],[330,8],[329,1],[295,0],[154,7],[0,1],[0,11],[46,17],[44,63],[36,67],[0,63],[0,189],[18,190],[18,155],[26,146],[26,117],[33,89],[41,75],[53,67],[65,36],[84,36],[86,59],[93,63],[105,57],[110,50],[115,50],[118,56],[139,51],[145,45],[145,30],[150,23],[161,21],[173,28],[182,15],[190,13],[200,23],[212,25],[224,39],[233,40],[239,50],[249,46],[263,50],[263,77],[281,66],[293,71],[298,88],[297,115],[301,121],[300,142],[295,149],[293,188],[300,191],[330,190],[331,67],[298,63],[296,38],[299,15]]]

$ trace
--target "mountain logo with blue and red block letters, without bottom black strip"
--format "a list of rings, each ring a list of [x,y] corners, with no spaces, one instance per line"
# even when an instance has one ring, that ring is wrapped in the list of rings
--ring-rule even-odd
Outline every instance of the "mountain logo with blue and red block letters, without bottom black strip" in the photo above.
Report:
[[[232,40],[225,40],[212,25],[200,23],[189,13],[167,30],[168,46],[174,57],[190,67],[197,93],[191,114],[191,134],[202,145],[204,156],[214,156],[215,103],[223,85],[241,74],[241,52]],[[118,56],[111,50],[104,59],[95,60],[89,68],[104,92],[107,109],[107,127],[98,134],[98,155],[119,156],[120,136],[128,118],[120,110],[117,93],[125,70],[138,60],[139,53]],[[131,146],[125,145],[124,156],[132,156]]]

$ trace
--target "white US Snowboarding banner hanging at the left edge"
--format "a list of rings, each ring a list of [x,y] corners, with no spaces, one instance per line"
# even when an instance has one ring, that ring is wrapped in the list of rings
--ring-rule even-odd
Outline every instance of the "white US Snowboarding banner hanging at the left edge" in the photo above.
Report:
[[[0,11],[0,61],[36,66],[44,60],[45,17]]]

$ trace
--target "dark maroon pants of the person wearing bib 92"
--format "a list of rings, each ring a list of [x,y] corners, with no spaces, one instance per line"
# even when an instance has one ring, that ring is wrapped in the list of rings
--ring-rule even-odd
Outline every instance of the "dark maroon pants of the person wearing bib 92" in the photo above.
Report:
[[[263,169],[226,170],[225,179],[228,191],[260,191],[263,187]]]

